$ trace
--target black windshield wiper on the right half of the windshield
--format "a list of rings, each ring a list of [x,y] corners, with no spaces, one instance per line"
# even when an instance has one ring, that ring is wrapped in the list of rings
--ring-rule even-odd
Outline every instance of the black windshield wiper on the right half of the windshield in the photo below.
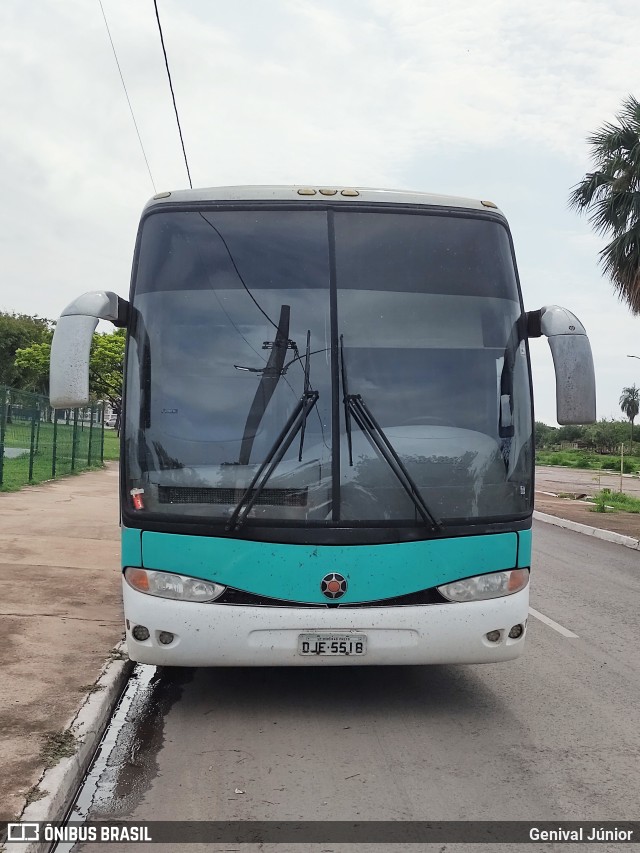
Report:
[[[344,391],[344,408],[345,408],[345,426],[347,431],[347,443],[349,446],[349,464],[353,465],[353,452],[351,443],[351,418],[358,424],[362,432],[367,436],[373,447],[378,451],[380,456],[387,463],[391,471],[395,474],[398,482],[405,490],[413,505],[418,511],[431,530],[442,530],[442,523],[435,518],[429,510],[425,499],[420,492],[415,480],[407,471],[404,463],[398,456],[394,446],[389,441],[388,436],[374,418],[371,410],[362,399],[360,394],[349,394],[347,389],[347,372],[344,363],[344,343],[342,335],[340,336],[340,356],[342,366],[342,385]]]

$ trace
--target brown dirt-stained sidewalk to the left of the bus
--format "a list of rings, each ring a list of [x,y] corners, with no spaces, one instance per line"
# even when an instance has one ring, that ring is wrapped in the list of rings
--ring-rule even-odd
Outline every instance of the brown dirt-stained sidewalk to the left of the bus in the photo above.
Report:
[[[0,494],[0,817],[122,639],[118,465]]]

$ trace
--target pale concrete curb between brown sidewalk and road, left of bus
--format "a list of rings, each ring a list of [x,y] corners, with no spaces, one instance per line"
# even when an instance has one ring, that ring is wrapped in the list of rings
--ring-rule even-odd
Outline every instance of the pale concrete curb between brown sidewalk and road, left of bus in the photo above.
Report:
[[[18,820],[20,823],[60,821],[69,807],[69,801],[89,768],[93,754],[100,743],[134,664],[121,658],[124,643],[116,648],[117,657],[105,662],[91,692],[66,726],[76,737],[76,752],[48,768],[40,777],[37,787],[47,794],[40,800],[28,803]],[[50,841],[5,842],[3,853],[46,853]]]

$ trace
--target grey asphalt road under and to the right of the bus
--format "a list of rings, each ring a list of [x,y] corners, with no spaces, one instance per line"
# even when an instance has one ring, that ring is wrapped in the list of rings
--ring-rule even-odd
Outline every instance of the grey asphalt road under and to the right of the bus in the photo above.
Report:
[[[222,669],[159,676],[148,691],[155,704],[138,697],[129,712],[131,723],[93,794],[93,815],[637,819],[640,558],[628,548],[547,524],[537,523],[535,534],[531,604],[556,624],[532,617],[520,660],[478,667]],[[521,847],[533,849],[504,844],[500,850]]]

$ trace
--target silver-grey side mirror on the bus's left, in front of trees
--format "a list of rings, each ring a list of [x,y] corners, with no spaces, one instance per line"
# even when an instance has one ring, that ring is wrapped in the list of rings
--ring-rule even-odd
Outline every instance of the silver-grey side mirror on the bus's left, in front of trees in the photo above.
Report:
[[[96,290],[67,305],[51,342],[49,398],[56,409],[75,409],[89,402],[89,354],[98,320],[126,326],[129,303],[117,293]]]

